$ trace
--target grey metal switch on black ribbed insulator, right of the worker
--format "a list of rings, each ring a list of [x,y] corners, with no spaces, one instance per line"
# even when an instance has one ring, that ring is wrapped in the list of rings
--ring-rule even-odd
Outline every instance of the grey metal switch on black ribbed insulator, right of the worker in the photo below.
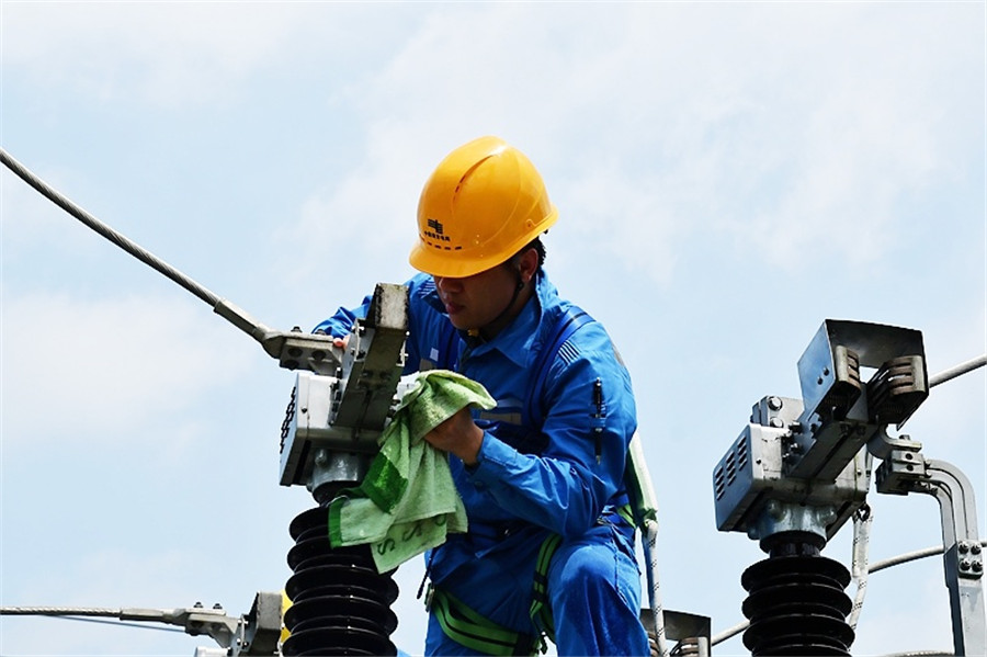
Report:
[[[869,381],[862,375],[873,372]],[[931,495],[940,506],[955,655],[985,655],[984,559],[974,490],[921,443],[892,438],[929,395],[921,332],[827,319],[798,360],[802,399],[768,396],[713,472],[717,528],[768,554],[741,577],[752,655],[850,655],[850,573],[819,554],[881,494]]]

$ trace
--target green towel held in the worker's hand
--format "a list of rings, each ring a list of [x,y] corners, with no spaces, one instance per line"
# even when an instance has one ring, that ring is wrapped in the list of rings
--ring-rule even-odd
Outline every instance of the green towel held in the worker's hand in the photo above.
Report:
[[[379,573],[441,545],[450,532],[466,531],[449,456],[423,437],[467,406],[496,405],[484,386],[447,370],[421,372],[411,386],[381,434],[366,477],[329,503],[332,546],[370,543]]]

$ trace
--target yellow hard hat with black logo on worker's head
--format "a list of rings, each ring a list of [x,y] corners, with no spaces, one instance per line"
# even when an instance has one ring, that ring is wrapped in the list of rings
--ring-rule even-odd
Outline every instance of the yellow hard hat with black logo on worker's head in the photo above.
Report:
[[[433,276],[472,276],[504,262],[557,218],[524,154],[480,137],[445,156],[426,182],[408,260]]]

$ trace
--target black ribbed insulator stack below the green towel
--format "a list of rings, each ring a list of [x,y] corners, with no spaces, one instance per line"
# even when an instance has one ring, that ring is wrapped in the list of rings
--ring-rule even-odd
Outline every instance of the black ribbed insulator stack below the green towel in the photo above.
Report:
[[[291,636],[282,655],[397,655],[390,604],[398,587],[393,573],[378,574],[367,545],[329,544],[328,510],[309,509],[292,521],[288,551],[294,575],[285,585],[292,605],[284,614]]]

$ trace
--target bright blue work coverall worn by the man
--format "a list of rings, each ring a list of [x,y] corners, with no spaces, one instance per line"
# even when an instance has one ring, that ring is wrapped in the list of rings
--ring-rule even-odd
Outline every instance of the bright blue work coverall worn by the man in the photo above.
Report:
[[[615,512],[626,502],[623,475],[637,424],[631,378],[603,327],[591,321],[551,363],[541,400],[534,400],[544,401],[541,412],[525,412],[537,355],[551,348],[570,306],[543,270],[535,281],[536,294],[490,341],[450,330],[431,276],[407,283],[406,373],[455,369],[497,400],[496,408],[474,412],[485,432],[477,465],[450,455],[469,531],[451,534],[427,555],[428,575],[434,587],[488,620],[537,635],[530,616],[535,562],[544,539],[558,534],[563,541],[547,587],[558,654],[648,655],[638,620],[634,528]],[[317,330],[347,335],[368,303],[367,297],[359,308],[340,308]],[[524,426],[529,415],[541,415],[541,429]],[[476,653],[445,636],[433,613],[426,654]]]

